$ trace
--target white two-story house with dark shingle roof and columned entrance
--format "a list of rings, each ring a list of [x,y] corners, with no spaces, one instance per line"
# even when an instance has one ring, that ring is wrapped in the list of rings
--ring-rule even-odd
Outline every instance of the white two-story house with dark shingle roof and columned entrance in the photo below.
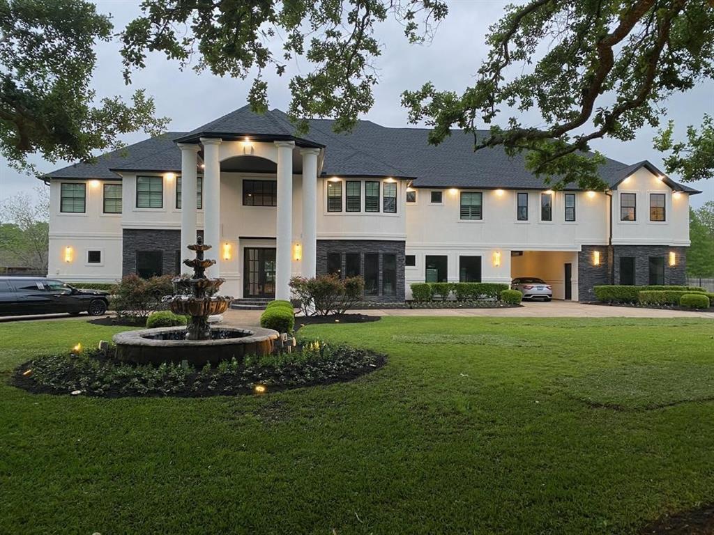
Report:
[[[240,108],[44,176],[49,276],[113,281],[188,272],[202,233],[211,276],[234,297],[289,296],[292,275],[361,275],[366,299],[401,301],[411,282],[540,277],[555,298],[600,284],[685,281],[689,195],[648,162],[608,160],[606,191],[553,191],[522,158],[473,152],[453,133],[360,121],[336,134],[285,113]]]

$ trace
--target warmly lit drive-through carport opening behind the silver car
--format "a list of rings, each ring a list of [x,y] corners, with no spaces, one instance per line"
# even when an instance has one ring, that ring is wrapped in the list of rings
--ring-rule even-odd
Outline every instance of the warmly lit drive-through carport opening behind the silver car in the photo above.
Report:
[[[578,300],[578,253],[511,251],[511,280],[535,277],[553,290],[553,299]]]

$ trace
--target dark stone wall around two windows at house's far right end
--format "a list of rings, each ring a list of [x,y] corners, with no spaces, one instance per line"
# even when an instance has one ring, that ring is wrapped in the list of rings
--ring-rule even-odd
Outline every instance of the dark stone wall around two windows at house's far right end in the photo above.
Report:
[[[635,285],[644,286],[650,283],[650,256],[660,256],[665,259],[665,285],[685,285],[687,283],[687,248],[670,247],[669,245],[614,245],[613,260],[615,276],[613,284],[620,284],[620,257],[635,258]],[[669,265],[669,253],[675,253],[675,265]]]

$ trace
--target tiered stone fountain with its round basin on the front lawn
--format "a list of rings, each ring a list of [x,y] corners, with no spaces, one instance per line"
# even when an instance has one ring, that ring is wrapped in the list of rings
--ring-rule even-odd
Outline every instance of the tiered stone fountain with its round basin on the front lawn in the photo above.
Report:
[[[188,325],[120,332],[113,338],[117,359],[139,364],[187,362],[202,366],[206,362],[216,364],[233,358],[241,360],[243,355],[273,352],[279,337],[274,330],[209,325],[208,317],[225,312],[233,298],[215,295],[225,280],[206,277],[206,268],[216,260],[203,258],[211,245],[203,244],[200,237],[197,241],[188,245],[188,249],[196,252],[196,258],[183,260],[193,267],[193,276],[176,277],[174,295],[164,297],[174,313],[191,318]]]

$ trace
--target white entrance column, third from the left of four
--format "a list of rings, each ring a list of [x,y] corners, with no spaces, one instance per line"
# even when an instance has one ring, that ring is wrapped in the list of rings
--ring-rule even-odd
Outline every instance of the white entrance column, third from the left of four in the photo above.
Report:
[[[275,298],[290,299],[291,245],[293,240],[294,141],[278,146],[278,221],[276,225]]]

